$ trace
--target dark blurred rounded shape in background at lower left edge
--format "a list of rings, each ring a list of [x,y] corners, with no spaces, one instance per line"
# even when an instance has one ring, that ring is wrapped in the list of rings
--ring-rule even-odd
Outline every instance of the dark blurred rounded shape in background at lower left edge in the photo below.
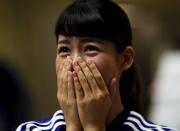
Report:
[[[0,131],[13,131],[30,116],[30,102],[19,77],[5,63],[0,61]]]

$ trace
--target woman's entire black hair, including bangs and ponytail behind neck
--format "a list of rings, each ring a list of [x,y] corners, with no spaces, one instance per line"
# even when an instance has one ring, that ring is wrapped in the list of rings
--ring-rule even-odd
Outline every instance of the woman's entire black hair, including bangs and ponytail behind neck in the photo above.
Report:
[[[132,43],[126,13],[110,0],[76,0],[60,15],[55,35],[93,37],[112,41],[118,52]],[[142,113],[141,86],[135,65],[123,72],[120,93],[125,108]]]

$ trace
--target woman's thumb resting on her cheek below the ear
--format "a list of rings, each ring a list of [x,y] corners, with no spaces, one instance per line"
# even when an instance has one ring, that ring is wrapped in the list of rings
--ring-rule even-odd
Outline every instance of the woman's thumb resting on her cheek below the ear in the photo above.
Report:
[[[111,99],[114,97],[114,94],[116,92],[116,82],[117,82],[116,77],[113,77],[108,86]]]

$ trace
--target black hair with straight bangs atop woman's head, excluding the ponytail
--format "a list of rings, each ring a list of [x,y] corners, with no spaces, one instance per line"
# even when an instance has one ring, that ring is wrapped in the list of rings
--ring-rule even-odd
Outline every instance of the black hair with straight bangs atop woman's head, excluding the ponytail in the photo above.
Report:
[[[55,27],[56,39],[59,35],[92,37],[112,41],[123,50],[132,42],[127,15],[112,1],[92,1],[77,0],[62,12]]]

